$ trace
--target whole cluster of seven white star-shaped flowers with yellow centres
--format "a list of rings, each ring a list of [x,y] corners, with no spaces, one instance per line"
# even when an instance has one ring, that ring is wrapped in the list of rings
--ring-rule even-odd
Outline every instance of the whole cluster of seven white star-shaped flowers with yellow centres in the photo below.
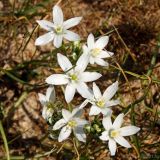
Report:
[[[80,37],[78,34],[69,31],[68,29],[79,24],[82,17],[71,18],[64,21],[63,12],[59,6],[53,7],[53,22],[47,20],[38,20],[37,23],[48,31],[48,33],[36,39],[35,45],[45,45],[51,41],[56,48],[63,44],[63,38],[69,41],[78,41]],[[124,136],[136,134],[140,128],[136,126],[121,127],[123,123],[124,114],[119,114],[114,123],[112,124],[112,106],[118,105],[118,99],[112,98],[118,90],[118,81],[111,84],[102,94],[100,88],[93,81],[99,79],[102,75],[98,72],[86,71],[87,66],[100,65],[102,67],[108,66],[108,62],[104,58],[113,56],[112,52],[106,51],[105,46],[109,41],[109,36],[102,36],[95,41],[93,34],[89,34],[87,43],[82,47],[82,54],[72,64],[69,58],[61,53],[57,53],[57,61],[63,73],[56,73],[46,78],[46,83],[49,84],[46,95],[39,93],[39,100],[43,105],[42,116],[47,121],[51,121],[54,114],[54,103],[56,101],[55,85],[63,85],[65,100],[68,104],[69,110],[63,108],[61,118],[54,123],[53,131],[60,130],[58,141],[66,140],[72,133],[81,141],[86,142],[86,132],[84,130],[86,125],[90,122],[82,118],[82,113],[87,104],[91,104],[89,116],[98,116],[102,120],[103,130],[99,138],[102,141],[108,141],[109,150],[111,155],[116,153],[116,142],[124,147],[130,148]],[[87,83],[93,82],[93,88],[88,87]],[[75,93],[78,92],[86,100],[79,106],[73,107],[70,105]],[[101,118],[103,117],[103,118]]]

